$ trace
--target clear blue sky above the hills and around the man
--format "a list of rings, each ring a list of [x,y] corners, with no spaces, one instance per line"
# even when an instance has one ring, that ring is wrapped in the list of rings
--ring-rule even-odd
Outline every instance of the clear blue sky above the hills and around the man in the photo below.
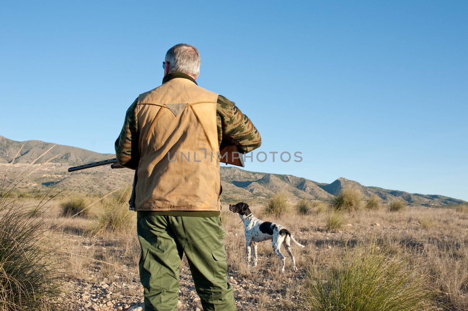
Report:
[[[0,135],[112,153],[187,42],[257,151],[302,152],[247,170],[468,200],[467,1],[220,2],[3,2]]]

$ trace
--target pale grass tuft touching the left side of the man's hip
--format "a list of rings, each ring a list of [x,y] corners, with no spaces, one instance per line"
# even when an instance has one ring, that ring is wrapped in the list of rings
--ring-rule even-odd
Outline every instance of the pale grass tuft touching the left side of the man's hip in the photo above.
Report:
[[[128,209],[131,191],[117,192],[113,197],[102,202],[88,226],[92,235],[104,233],[128,233],[135,225],[136,213]]]

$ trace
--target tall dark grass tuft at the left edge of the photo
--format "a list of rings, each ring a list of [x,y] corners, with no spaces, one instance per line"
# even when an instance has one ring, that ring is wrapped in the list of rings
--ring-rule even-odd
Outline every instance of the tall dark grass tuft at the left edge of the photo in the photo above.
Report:
[[[38,217],[47,202],[31,212],[12,196],[21,180],[7,183],[6,173],[0,180],[0,310],[53,310],[61,301],[63,270],[45,217]]]

